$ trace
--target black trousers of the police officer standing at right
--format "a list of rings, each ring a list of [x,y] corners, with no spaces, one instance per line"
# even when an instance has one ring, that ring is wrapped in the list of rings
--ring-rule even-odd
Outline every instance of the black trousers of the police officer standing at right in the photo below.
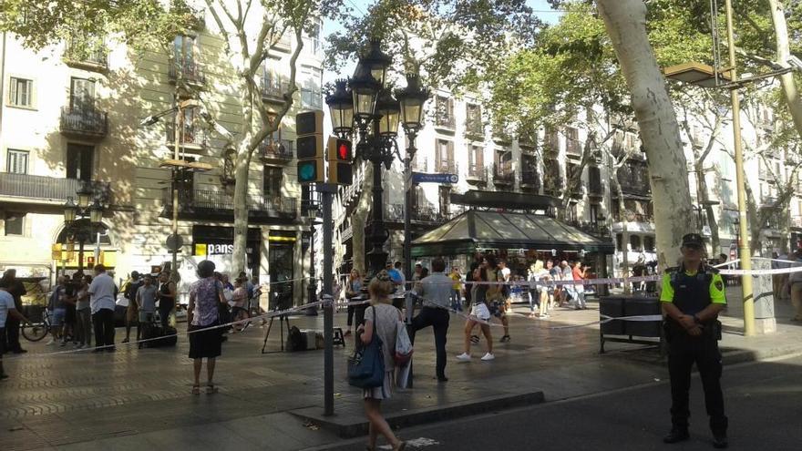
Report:
[[[718,342],[709,336],[691,337],[675,333],[668,354],[671,375],[671,421],[676,429],[688,428],[688,395],[691,388],[691,367],[696,364],[704,389],[704,405],[710,416],[710,429],[724,434],[727,417],[724,415],[724,395],[721,392],[721,353]]]

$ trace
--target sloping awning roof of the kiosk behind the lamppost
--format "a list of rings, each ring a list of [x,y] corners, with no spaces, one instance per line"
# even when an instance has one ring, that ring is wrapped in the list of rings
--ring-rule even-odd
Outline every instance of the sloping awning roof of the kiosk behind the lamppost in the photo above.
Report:
[[[412,256],[458,255],[479,249],[612,253],[615,246],[548,216],[468,210],[412,241]]]

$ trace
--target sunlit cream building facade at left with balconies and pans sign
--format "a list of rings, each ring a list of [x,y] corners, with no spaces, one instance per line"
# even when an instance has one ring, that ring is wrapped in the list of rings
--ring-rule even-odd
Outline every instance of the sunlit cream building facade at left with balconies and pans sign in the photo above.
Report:
[[[234,180],[224,133],[242,127],[242,96],[231,89],[236,74],[221,34],[204,25],[212,23],[201,12],[197,29],[176,36],[166,52],[134,51],[109,38],[33,52],[4,36],[0,267],[51,276],[103,262],[120,280],[134,270],[149,272],[171,260],[166,240],[177,208],[180,291],[194,280],[198,261],[231,269]],[[252,158],[246,262],[259,282],[292,281],[284,291],[296,301],[309,271],[309,220],[295,175],[293,122],[298,111],[323,104],[321,41],[317,35],[303,40],[300,92],[279,131]],[[288,31],[270,49],[260,71],[268,104],[283,101],[295,46]],[[190,99],[200,107],[182,110],[182,127],[175,113],[143,123]],[[162,162],[173,158],[177,143],[181,159],[211,170],[180,171],[174,178]],[[81,243],[65,231],[63,210],[82,187],[92,190],[104,215],[102,227],[83,243],[79,262]],[[173,187],[180,194],[177,206]],[[56,244],[62,244],[60,255]]]

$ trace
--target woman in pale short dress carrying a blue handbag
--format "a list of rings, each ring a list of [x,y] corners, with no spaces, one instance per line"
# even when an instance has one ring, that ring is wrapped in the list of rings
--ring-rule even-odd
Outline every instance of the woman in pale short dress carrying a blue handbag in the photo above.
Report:
[[[375,450],[376,437],[381,434],[394,450],[406,448],[406,442],[398,440],[393,430],[387,425],[382,416],[381,404],[383,399],[390,398],[390,387],[393,385],[396,364],[393,355],[396,354],[396,333],[399,321],[403,321],[401,311],[393,306],[390,293],[394,292],[395,285],[386,271],[379,272],[368,284],[370,293],[370,307],[365,310],[365,325],[357,329],[361,332],[360,339],[365,346],[374,340],[379,340],[381,360],[384,363],[385,377],[382,384],[374,387],[365,387],[365,415],[370,422],[370,435],[368,450]]]

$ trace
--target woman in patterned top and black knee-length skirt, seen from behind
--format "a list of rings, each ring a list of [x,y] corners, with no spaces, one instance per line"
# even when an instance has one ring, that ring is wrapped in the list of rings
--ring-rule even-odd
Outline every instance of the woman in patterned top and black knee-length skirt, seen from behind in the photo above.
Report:
[[[198,263],[197,282],[190,286],[190,305],[187,307],[187,334],[190,336],[190,359],[193,359],[192,395],[200,395],[200,370],[206,359],[206,394],[217,393],[214,386],[214,365],[221,355],[222,328],[220,305],[225,303],[222,283],[214,277],[214,262]]]

